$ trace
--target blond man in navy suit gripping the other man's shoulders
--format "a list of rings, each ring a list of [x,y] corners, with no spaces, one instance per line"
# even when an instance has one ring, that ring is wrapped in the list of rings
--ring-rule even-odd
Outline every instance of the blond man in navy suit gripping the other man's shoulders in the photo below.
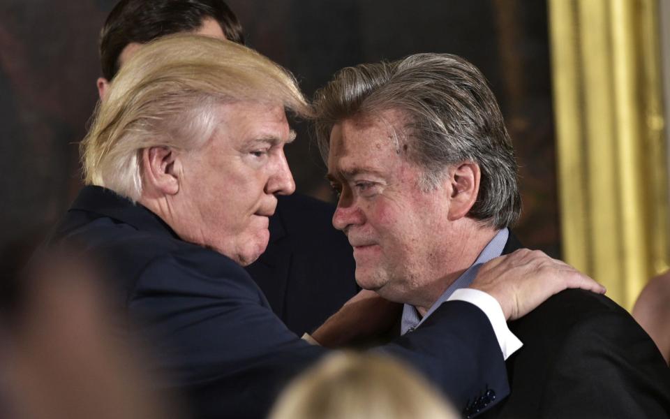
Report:
[[[285,328],[242,267],[265,251],[276,196],[295,189],[287,111],[312,114],[288,72],[242,45],[195,35],[144,45],[96,110],[81,145],[87,186],[48,243],[102,261],[110,301],[156,353],[147,369],[166,377],[154,388],[184,392],[198,418],[265,417],[285,382],[327,353]],[[505,397],[500,323],[566,286],[604,291],[547,256],[514,253],[472,284],[494,311],[445,302],[382,350],[457,406],[486,388]],[[320,330],[328,341],[338,328]]]

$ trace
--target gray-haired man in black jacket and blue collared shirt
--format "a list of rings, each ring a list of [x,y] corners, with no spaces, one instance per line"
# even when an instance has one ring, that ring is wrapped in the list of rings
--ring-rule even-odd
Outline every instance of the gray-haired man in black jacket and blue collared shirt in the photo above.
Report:
[[[482,73],[451,54],[343,68],[315,95],[316,134],[339,194],[333,224],[360,286],[405,303],[410,337],[442,302],[472,293],[482,264],[519,249],[517,166]],[[512,286],[512,284],[510,284]],[[539,284],[538,284],[539,286]],[[563,291],[509,322],[512,392],[496,418],[660,418],[670,371],[611,300]],[[418,329],[417,329],[418,330]],[[466,416],[495,399],[470,399]]]

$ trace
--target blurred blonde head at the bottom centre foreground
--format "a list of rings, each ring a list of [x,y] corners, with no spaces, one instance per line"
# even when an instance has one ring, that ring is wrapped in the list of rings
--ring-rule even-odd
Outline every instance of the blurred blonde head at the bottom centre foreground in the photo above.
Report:
[[[271,419],[456,419],[410,367],[387,355],[335,353],[283,392]]]

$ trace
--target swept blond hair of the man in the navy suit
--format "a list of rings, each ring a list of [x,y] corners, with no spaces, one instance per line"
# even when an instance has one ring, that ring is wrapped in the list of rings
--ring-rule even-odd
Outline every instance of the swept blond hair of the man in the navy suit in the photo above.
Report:
[[[312,112],[288,71],[243,45],[192,34],[144,45],[98,103],[80,145],[84,182],[138,200],[142,149],[202,147],[221,123],[218,107],[237,101]]]

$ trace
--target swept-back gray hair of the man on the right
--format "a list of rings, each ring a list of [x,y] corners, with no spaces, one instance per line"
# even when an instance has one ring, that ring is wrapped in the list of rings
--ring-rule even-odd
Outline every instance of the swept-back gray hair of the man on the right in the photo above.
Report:
[[[396,141],[411,142],[408,159],[424,169],[420,188],[435,189],[447,168],[472,161],[482,178],[468,215],[495,228],[519,219],[521,196],[512,140],[486,78],[465,59],[426,53],[343,68],[316,92],[314,106],[316,139],[325,160],[335,124],[400,110],[407,122]]]

